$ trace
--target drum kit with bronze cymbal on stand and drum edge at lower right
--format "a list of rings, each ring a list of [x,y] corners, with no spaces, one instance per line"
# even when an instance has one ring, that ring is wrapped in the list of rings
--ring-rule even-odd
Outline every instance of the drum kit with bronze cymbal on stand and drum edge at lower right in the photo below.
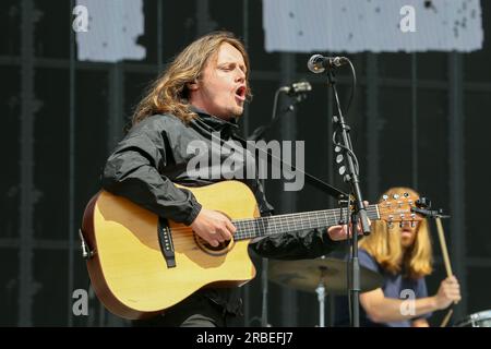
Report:
[[[346,261],[339,258],[268,261],[270,280],[284,287],[318,294],[319,327],[325,327],[326,293],[345,294],[348,275]],[[379,273],[360,266],[361,292],[380,288],[382,284],[383,278]],[[456,322],[454,327],[491,327],[491,310],[466,316]]]

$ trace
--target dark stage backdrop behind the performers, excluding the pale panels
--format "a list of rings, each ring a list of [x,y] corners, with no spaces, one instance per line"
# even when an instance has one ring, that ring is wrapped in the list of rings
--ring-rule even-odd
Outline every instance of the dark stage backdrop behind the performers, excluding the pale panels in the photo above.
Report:
[[[137,39],[146,58],[116,63],[76,60],[73,7],[70,1],[0,2],[0,325],[128,325],[105,311],[92,290],[88,315],[73,315],[73,291],[89,285],[77,229],[85,204],[99,189],[105,159],[145,86],[175,53],[209,31],[231,31],[247,44],[254,98],[241,120],[244,135],[270,120],[279,86],[311,82],[312,93],[295,112],[282,116],[270,139],[306,141],[306,170],[344,185],[333,161],[325,76],[308,71],[312,53],[265,51],[262,1],[146,0],[144,34]],[[367,200],[375,202],[392,185],[415,186],[452,215],[444,228],[463,292],[455,318],[491,309],[491,189],[484,170],[491,129],[491,3],[481,1],[481,50],[346,55],[358,74],[347,122]],[[346,105],[348,70],[339,70],[338,77]],[[277,213],[334,205],[309,185],[295,193],[279,185],[266,183]],[[444,276],[435,230],[432,225],[431,293]],[[243,288],[240,325],[246,326],[258,326],[261,317],[261,260],[255,262],[258,278]],[[272,326],[319,322],[315,293],[270,282],[268,301]],[[442,315],[435,313],[431,324]]]

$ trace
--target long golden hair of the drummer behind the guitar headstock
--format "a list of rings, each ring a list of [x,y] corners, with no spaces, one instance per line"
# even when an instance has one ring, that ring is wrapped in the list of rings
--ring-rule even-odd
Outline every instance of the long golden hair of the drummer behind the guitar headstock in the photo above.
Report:
[[[415,201],[419,197],[415,190],[404,186],[391,188],[384,194],[392,197],[394,194],[402,193],[409,193],[409,197]],[[431,274],[433,261],[427,219],[419,221],[415,242],[405,255],[403,255],[398,224],[388,228],[385,221],[375,220],[372,221],[371,230],[368,237],[360,240],[359,246],[372,255],[383,269],[394,275],[404,272],[411,279]]]

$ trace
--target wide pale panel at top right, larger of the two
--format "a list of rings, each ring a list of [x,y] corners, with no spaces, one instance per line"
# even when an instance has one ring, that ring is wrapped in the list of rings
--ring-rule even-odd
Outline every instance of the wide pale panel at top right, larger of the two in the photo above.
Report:
[[[263,0],[265,49],[272,51],[474,51],[482,48],[479,0]],[[404,33],[404,5],[416,32]]]

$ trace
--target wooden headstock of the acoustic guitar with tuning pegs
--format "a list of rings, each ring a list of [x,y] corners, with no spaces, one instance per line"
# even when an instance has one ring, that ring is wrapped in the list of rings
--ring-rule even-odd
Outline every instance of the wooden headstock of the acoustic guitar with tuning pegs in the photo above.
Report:
[[[414,226],[424,219],[422,215],[412,210],[418,208],[418,200],[419,197],[411,197],[409,193],[382,196],[382,201],[378,204],[380,219],[385,220],[390,228],[394,222],[402,225],[404,221],[410,221]]]

